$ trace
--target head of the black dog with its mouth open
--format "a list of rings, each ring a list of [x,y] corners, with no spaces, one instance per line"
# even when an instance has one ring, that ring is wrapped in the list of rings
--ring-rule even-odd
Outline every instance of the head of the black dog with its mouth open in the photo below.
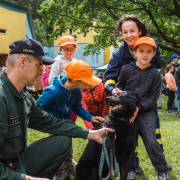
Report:
[[[127,92],[120,92],[106,98],[110,108],[110,114],[115,118],[122,118],[129,121],[133,117],[137,106],[137,99]]]

